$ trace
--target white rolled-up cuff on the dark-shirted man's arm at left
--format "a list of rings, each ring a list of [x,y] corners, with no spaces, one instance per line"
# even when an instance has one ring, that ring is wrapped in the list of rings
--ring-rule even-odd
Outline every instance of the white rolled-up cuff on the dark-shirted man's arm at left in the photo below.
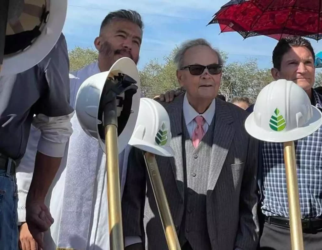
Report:
[[[38,151],[51,157],[62,157],[65,145],[71,136],[71,117],[75,111],[66,116],[49,117],[39,114],[33,118],[33,125],[41,131]]]

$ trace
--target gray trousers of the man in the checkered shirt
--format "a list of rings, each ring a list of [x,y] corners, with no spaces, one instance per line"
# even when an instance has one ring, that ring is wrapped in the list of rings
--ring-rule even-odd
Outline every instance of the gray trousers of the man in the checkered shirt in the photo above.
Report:
[[[314,231],[303,230],[304,249],[322,249],[322,229]],[[260,238],[260,250],[291,250],[291,235],[289,228],[275,226],[265,222]]]

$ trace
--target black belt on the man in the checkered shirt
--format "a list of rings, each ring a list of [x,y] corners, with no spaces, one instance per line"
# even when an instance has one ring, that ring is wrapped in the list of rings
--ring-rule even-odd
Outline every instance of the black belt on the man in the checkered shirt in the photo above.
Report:
[[[289,228],[289,219],[279,217],[279,216],[265,216],[265,222],[268,224],[281,226],[281,227],[287,227]],[[308,229],[321,229],[322,228],[322,218],[306,218],[302,219],[302,229],[308,230]]]

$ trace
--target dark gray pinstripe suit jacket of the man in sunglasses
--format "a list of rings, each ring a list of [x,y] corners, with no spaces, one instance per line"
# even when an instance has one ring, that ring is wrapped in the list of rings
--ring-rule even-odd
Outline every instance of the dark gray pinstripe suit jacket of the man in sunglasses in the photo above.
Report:
[[[162,103],[170,117],[171,147],[175,156],[156,156],[177,228],[184,212],[183,97],[184,94],[171,103]],[[246,117],[247,113],[241,108],[216,99],[206,194],[207,221],[195,221],[195,224],[207,224],[212,250],[252,250],[257,247],[258,142],[244,129]],[[146,249],[168,249],[142,152],[133,149],[129,157],[122,199],[124,236],[140,236]]]

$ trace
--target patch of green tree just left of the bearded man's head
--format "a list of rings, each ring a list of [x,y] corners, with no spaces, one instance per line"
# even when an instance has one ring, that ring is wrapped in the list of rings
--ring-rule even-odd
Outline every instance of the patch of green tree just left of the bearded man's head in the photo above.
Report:
[[[97,61],[98,51],[92,48],[75,47],[69,51],[70,71],[81,69]]]

